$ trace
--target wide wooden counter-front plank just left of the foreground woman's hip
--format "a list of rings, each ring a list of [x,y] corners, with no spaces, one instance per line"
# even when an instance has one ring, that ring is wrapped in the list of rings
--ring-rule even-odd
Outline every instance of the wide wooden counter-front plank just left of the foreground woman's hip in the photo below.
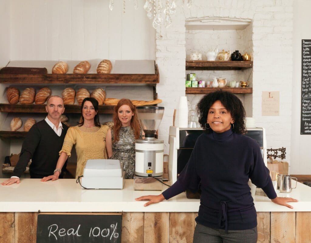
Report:
[[[169,243],[191,243],[194,224],[194,213],[169,213]]]

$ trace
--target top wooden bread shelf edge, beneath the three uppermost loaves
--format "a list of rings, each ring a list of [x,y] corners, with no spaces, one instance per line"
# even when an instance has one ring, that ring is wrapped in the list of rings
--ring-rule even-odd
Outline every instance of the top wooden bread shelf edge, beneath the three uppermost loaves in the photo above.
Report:
[[[150,84],[159,83],[158,65],[155,74],[0,74],[0,83],[19,84]]]

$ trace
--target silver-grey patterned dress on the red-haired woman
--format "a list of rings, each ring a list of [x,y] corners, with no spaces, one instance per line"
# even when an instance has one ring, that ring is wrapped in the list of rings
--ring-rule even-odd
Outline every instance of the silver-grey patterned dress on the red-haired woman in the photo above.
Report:
[[[114,131],[111,128],[111,138],[114,141]],[[112,156],[110,159],[120,160],[125,171],[126,179],[133,179],[135,172],[135,135],[131,126],[121,127],[119,141],[112,142]]]

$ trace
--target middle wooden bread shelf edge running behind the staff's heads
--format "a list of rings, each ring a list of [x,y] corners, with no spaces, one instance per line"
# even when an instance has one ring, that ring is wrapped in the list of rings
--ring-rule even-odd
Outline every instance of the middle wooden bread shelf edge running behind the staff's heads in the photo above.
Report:
[[[22,104],[0,104],[1,112],[19,112],[19,113],[47,113],[44,105],[22,105]],[[114,106],[98,106],[100,114],[113,114]],[[66,113],[81,113],[81,105],[65,105]]]

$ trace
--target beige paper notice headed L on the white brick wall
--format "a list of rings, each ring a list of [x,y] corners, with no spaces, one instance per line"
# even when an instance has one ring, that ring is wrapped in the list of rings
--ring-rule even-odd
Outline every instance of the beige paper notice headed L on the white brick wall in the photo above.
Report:
[[[280,92],[262,91],[262,115],[280,115]]]

